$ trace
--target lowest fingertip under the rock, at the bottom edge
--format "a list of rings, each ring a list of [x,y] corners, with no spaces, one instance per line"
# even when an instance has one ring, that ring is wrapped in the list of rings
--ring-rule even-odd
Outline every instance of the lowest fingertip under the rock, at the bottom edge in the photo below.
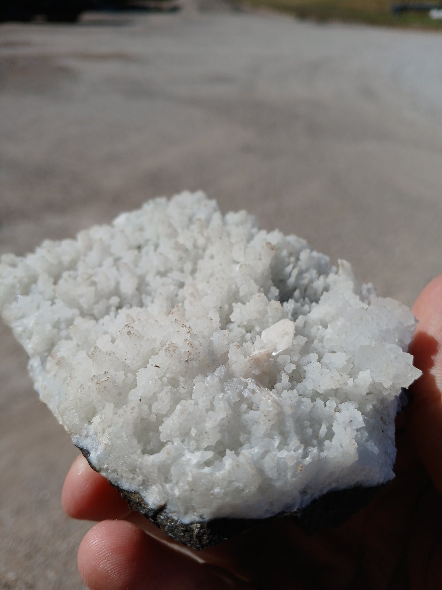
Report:
[[[104,520],[85,535],[78,569],[90,590],[226,590],[250,588],[174,552],[125,520]]]

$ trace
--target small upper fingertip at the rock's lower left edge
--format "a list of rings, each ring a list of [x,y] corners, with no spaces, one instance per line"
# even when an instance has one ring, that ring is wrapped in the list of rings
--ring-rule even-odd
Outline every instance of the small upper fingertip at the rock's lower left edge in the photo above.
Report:
[[[61,503],[69,516],[83,520],[123,518],[129,512],[120,492],[94,471],[83,455],[75,459],[66,476]]]

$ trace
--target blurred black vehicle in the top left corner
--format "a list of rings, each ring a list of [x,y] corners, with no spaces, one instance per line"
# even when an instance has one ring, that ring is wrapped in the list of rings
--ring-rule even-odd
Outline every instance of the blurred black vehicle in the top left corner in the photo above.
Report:
[[[88,4],[85,0],[1,0],[0,21],[44,17],[50,22],[75,22]]]

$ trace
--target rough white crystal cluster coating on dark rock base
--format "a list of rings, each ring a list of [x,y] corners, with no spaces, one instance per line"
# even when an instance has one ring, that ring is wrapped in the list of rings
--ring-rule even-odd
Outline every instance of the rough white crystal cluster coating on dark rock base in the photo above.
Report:
[[[182,522],[393,477],[410,310],[202,193],[5,255],[0,310],[91,463]]]

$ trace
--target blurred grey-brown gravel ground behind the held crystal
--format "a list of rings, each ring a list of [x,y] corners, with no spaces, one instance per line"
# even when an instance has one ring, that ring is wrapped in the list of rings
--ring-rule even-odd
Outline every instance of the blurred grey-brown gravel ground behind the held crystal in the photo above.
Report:
[[[0,251],[202,188],[411,304],[442,270],[441,53],[438,34],[217,0],[1,25]],[[0,588],[82,588],[87,525],[59,501],[75,451],[0,337]]]

